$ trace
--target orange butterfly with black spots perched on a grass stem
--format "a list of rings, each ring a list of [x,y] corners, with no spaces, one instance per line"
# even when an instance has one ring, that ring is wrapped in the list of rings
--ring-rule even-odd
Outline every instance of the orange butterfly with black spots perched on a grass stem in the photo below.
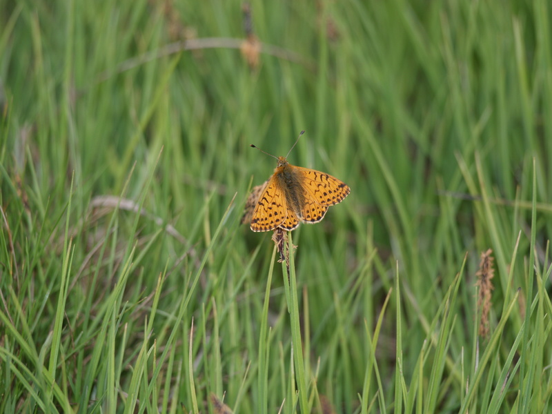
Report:
[[[303,134],[304,131],[299,134],[299,138]],[[253,144],[250,146],[257,148]],[[274,174],[264,184],[256,186],[248,198],[242,222],[250,221],[253,231],[276,228],[291,231],[302,221],[318,223],[326,215],[328,207],[340,203],[351,193],[347,184],[325,172],[289,164],[286,159],[288,155],[270,155],[278,160]],[[251,210],[253,213],[250,213]]]

